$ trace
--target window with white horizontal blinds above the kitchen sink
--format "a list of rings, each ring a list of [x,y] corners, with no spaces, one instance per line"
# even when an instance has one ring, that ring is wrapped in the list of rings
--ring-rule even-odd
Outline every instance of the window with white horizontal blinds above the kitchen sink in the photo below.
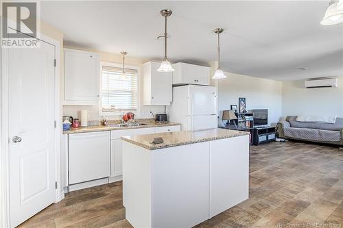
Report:
[[[117,64],[102,64],[101,105],[102,115],[117,115],[122,112],[137,112],[138,68],[123,69]]]

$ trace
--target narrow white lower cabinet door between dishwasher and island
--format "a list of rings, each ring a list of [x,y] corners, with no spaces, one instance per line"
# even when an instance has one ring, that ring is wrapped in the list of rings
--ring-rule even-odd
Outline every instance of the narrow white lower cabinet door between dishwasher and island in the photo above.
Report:
[[[120,139],[111,140],[111,159],[113,162],[113,166],[111,166],[110,175],[111,177],[120,176],[123,174],[123,162],[122,156],[123,151],[121,149],[122,142]]]

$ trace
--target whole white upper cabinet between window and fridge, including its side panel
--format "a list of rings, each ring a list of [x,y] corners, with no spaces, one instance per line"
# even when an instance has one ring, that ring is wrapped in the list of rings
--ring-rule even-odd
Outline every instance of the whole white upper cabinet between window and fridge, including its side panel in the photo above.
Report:
[[[143,64],[143,103],[144,105],[170,105],[172,101],[172,74],[158,72],[159,62]]]

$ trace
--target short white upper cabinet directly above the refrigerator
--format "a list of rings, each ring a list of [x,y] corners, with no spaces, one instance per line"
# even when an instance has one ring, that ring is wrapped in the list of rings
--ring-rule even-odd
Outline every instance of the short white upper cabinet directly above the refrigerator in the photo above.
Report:
[[[210,85],[210,67],[178,62],[173,64],[173,84]]]

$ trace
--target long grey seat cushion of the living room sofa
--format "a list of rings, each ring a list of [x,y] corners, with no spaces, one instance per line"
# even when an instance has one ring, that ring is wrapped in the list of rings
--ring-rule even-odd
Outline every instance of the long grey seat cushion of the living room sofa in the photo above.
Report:
[[[341,140],[340,131],[329,131],[311,128],[285,127],[285,136],[299,138],[303,140],[314,140],[324,142],[339,142]]]

